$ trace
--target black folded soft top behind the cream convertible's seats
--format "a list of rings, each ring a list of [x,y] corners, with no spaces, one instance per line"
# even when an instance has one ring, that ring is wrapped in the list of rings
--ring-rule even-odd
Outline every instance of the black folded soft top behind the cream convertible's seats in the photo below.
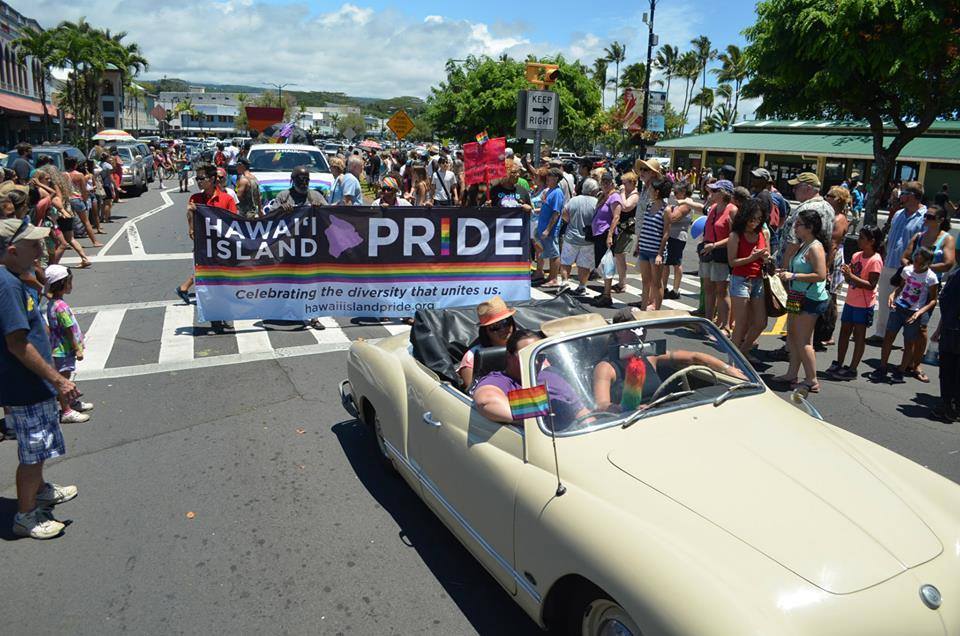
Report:
[[[591,311],[567,294],[549,300],[512,303],[510,307],[517,310],[514,321],[524,329],[534,331],[539,331],[540,325],[548,320]],[[454,369],[478,338],[476,307],[421,309],[417,311],[410,330],[413,356],[455,386],[460,386],[460,377]]]

